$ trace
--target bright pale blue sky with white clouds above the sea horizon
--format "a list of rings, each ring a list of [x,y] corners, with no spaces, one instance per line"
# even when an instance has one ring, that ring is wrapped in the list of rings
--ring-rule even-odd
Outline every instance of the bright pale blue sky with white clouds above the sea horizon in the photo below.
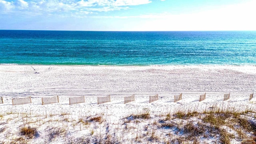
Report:
[[[0,0],[1,30],[256,30],[256,0]]]

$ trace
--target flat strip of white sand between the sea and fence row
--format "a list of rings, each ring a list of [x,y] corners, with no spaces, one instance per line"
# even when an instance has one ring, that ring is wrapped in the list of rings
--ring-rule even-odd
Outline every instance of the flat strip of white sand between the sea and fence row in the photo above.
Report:
[[[250,93],[256,66],[0,66],[4,96]],[[18,93],[18,94],[15,94]]]

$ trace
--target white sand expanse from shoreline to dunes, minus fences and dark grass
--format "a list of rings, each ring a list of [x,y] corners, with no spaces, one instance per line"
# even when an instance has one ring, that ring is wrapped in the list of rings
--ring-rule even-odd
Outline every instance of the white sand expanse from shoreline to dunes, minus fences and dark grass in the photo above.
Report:
[[[26,143],[62,144],[69,143],[68,140],[79,143],[83,136],[94,143],[92,139],[98,136],[104,139],[107,134],[121,143],[148,143],[143,138],[135,139],[139,131],[143,135],[145,125],[154,123],[157,116],[179,110],[203,111],[211,106],[256,111],[256,99],[249,101],[255,90],[256,66],[0,65],[0,97],[4,100],[4,104],[0,104],[0,142],[12,143],[20,138],[20,126],[29,125],[38,133],[33,139],[22,139]],[[230,99],[223,101],[224,94],[229,92]],[[182,100],[174,103],[174,95],[180,93]],[[199,102],[200,94],[204,93],[206,99]],[[98,96],[109,94],[111,102],[97,104]],[[135,101],[124,104],[124,96],[132,94]],[[159,100],[149,103],[149,96],[154,94],[158,94]],[[59,103],[42,105],[42,97],[56,95]],[[31,96],[32,103],[12,106],[12,98],[24,96]],[[72,96],[85,96],[85,103],[69,105],[68,98]],[[124,119],[145,110],[150,112],[149,120],[129,123],[134,128],[121,132]],[[101,116],[104,122],[79,123],[81,118],[92,116]],[[50,132],[58,130],[56,137],[49,138]],[[156,131],[161,136],[150,143],[166,143],[170,139],[163,136],[163,132],[167,131],[175,133],[172,129]],[[250,133],[247,136],[250,137]],[[215,142],[218,143],[218,137],[214,136],[199,141]],[[241,140],[234,138],[232,143],[239,144]]]

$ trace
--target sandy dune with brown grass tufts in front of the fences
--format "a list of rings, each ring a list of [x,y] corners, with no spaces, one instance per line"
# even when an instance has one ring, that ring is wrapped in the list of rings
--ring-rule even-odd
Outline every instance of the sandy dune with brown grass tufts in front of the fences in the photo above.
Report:
[[[3,143],[160,143],[160,144],[256,144],[256,112],[252,108],[208,106],[155,113],[131,113],[113,123],[106,114],[74,116],[5,112],[1,114]],[[15,126],[12,126],[16,123]],[[15,131],[15,128],[18,130]],[[13,130],[14,129],[14,130]],[[37,131],[41,134],[36,136]]]

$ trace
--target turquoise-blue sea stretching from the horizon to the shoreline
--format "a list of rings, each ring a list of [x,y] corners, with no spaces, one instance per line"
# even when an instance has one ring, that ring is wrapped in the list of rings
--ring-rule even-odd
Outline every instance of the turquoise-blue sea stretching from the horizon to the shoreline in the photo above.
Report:
[[[256,31],[0,30],[0,64],[256,65]]]

